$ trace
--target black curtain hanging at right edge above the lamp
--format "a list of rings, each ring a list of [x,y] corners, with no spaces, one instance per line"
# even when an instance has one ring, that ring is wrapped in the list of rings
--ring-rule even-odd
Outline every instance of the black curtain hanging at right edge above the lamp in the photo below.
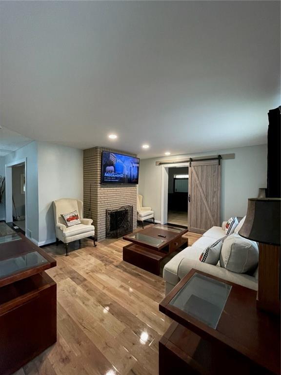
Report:
[[[267,132],[267,198],[280,198],[280,128],[281,115],[280,107],[271,109],[268,112],[268,132]]]

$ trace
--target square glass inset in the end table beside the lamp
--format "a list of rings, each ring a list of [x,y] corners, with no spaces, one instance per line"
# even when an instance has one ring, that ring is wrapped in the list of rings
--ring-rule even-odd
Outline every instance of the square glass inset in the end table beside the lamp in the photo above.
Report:
[[[170,305],[216,329],[232,286],[195,273]]]

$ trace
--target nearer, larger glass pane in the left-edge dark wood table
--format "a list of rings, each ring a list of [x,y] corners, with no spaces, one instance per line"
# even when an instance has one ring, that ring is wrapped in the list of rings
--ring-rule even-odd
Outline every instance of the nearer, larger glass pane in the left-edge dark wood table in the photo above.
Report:
[[[37,251],[28,252],[18,257],[4,259],[0,261],[0,278],[11,275],[12,273],[24,271],[31,267],[37,267],[48,263]]]

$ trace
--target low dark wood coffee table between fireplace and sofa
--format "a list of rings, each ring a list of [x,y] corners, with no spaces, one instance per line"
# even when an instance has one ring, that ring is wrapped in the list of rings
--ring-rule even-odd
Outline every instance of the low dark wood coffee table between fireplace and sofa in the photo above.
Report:
[[[188,238],[182,237],[188,229],[169,225],[154,225],[127,234],[124,240],[132,244],[123,247],[123,260],[156,275],[161,261],[181,247],[188,246]]]

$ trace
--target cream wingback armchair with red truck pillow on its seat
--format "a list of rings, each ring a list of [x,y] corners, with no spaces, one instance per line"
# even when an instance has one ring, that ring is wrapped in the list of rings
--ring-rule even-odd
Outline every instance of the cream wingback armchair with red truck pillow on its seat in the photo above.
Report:
[[[62,198],[53,202],[57,245],[62,241],[65,245],[65,255],[68,255],[69,242],[80,240],[86,237],[93,237],[95,242],[95,227],[91,225],[92,219],[83,219],[83,202],[79,199]],[[66,227],[61,214],[77,211],[79,214],[81,224],[72,227]]]

